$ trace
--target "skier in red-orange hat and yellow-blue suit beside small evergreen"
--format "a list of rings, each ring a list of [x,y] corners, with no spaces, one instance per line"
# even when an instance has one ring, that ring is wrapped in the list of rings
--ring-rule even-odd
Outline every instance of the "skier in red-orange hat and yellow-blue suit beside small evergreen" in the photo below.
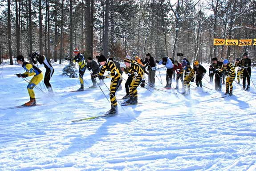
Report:
[[[85,73],[85,58],[84,56],[79,52],[79,50],[76,48],[74,50],[75,57],[73,58],[73,62],[78,62],[79,65],[79,80],[81,87],[77,91],[84,91],[84,80],[83,76]]]

